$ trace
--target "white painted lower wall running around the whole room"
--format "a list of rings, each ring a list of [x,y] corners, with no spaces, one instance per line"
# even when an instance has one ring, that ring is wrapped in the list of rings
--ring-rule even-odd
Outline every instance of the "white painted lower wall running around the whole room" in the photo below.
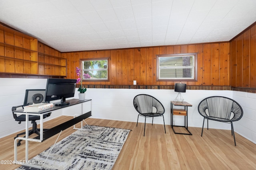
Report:
[[[13,119],[11,111],[12,106],[23,104],[25,90],[44,89],[45,87],[46,79],[0,78],[0,138],[25,129],[25,123],[18,124]],[[134,109],[133,98],[137,94],[149,94],[157,98],[165,107],[165,123],[170,125],[170,101],[174,100],[177,95],[174,90],[88,88],[86,98],[92,99],[92,118],[136,122],[138,113]],[[234,122],[234,130],[256,143],[256,109],[253,107],[256,101],[256,94],[230,90],[187,90],[186,93],[182,93],[182,96],[186,102],[193,105],[188,107],[189,127],[202,127],[203,117],[198,113],[197,107],[204,98],[208,96],[233,98],[244,109],[242,119]],[[77,91],[74,98],[78,98]],[[60,115],[80,113],[80,107],[78,105],[55,111],[44,121]],[[84,104],[84,112],[88,109],[90,109],[90,102]],[[183,118],[183,116],[174,116],[175,125],[183,125]],[[152,119],[147,119],[147,123],[151,121]],[[139,122],[144,122],[144,118],[139,117]],[[154,118],[154,123],[163,124],[162,117]],[[209,121],[209,128],[231,129],[231,126],[228,123]]]

